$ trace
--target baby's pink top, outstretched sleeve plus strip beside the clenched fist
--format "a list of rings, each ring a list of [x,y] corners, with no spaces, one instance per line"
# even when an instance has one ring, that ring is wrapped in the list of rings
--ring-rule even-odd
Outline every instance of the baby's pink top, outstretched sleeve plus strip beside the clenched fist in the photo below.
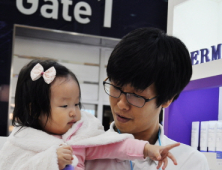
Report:
[[[143,158],[143,150],[148,142],[135,139],[126,139],[122,142],[117,142],[109,145],[94,146],[88,148],[78,148],[72,146],[73,154],[78,158],[78,164],[75,170],[84,170],[85,160],[94,159],[138,159]]]

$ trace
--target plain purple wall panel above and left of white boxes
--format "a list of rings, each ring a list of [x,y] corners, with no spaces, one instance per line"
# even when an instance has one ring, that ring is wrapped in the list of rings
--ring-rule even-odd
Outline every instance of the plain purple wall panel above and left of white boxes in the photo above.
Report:
[[[167,136],[190,145],[191,123],[218,119],[219,88],[184,91],[170,105]]]

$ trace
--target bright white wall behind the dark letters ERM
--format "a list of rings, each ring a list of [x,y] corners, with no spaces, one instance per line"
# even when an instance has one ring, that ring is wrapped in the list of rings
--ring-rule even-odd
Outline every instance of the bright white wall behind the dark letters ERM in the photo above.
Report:
[[[180,38],[190,52],[222,41],[222,1],[221,0],[170,0],[168,3],[169,34]],[[200,55],[198,55],[200,61]],[[192,80],[222,74],[221,60],[193,65]]]

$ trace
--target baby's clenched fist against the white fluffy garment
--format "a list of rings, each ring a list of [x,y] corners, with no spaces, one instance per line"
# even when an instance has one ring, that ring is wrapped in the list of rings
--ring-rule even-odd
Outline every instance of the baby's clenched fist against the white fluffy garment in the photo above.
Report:
[[[58,158],[58,165],[59,169],[64,169],[66,165],[72,164],[73,160],[73,150],[71,146],[62,145],[57,149],[57,158]]]

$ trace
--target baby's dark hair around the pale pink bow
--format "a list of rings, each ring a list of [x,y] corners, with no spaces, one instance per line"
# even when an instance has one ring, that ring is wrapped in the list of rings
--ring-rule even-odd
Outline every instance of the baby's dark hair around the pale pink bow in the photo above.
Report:
[[[54,66],[56,70],[56,78],[68,78],[68,76],[71,76],[79,86],[75,74],[57,62],[53,60],[32,60],[21,69],[18,76],[15,93],[15,109],[12,119],[13,126],[26,126],[42,130],[39,116],[45,114],[48,120],[51,115],[51,84],[45,83],[43,77],[40,77],[36,81],[32,81],[30,77],[30,72],[37,63],[41,64],[44,70]],[[79,93],[79,96],[81,97],[80,86]]]

